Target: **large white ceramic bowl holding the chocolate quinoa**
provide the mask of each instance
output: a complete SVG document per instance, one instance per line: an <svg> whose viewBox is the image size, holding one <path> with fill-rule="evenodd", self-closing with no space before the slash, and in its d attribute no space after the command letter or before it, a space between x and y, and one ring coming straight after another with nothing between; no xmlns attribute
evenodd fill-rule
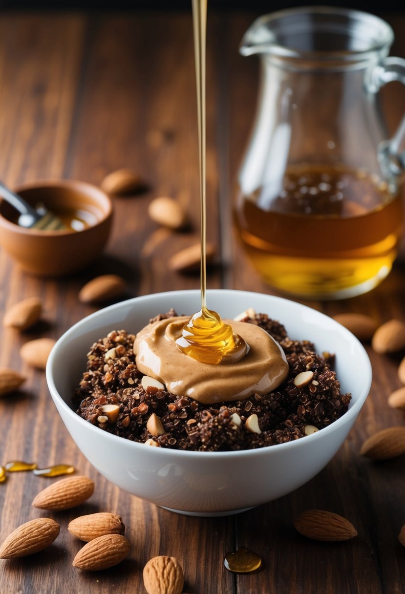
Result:
<svg viewBox="0 0 405 594"><path fill-rule="evenodd" d="M111 330L136 333L154 315L173 307L178 314L200 309L200 292L175 291L129 299L101 309L70 328L50 353L46 377L53 401L78 448L109 481L173 511L216 516L238 513L281 497L305 484L334 456L352 428L371 386L371 364L360 342L324 314L287 299L233 290L210 290L208 307L232 318L248 307L286 326L293 339L309 339L317 352L336 353L349 410L330 426L289 443L230 452L153 448L111 435L71 408L75 386L91 344Z"/></svg>

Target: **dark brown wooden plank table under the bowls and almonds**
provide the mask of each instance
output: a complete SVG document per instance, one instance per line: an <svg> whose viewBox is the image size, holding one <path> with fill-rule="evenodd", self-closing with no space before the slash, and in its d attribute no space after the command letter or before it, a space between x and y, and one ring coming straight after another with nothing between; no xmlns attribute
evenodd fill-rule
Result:
<svg viewBox="0 0 405 594"><path fill-rule="evenodd" d="M219 265L208 286L272 293L245 259L232 235L232 181L254 113L257 62L238 55L252 13L210 14L208 20L208 240ZM384 15L383 15L384 16ZM393 55L405 56L405 18L388 15ZM67 462L96 482L80 513L116 511L132 543L128 560L111 570L82 573L71 562L80 543L67 532L77 510L51 514L61 534L48 551L1 561L5 593L144 592L142 568L158 554L174 555L185 570L185 592L196 594L284 594L405 592L405 549L397 535L405 523L405 456L372 463L359 456L366 437L404 425L404 414L387 406L400 387L400 355L368 352L374 368L370 396L349 438L334 459L307 485L278 501L235 517L198 519L164 511L110 485L79 453L53 406L45 374L18 356L27 340L58 338L94 311L78 302L84 282L118 272L128 296L198 287L198 276L167 270L170 254L198 239L198 162L191 14L3 14L0 19L1 178L13 185L64 177L99 184L110 171L128 166L150 184L134 198L115 199L115 222L96 266L62 280L24 274L0 252L0 312L28 296L40 296L46 312L33 330L2 331L0 365L27 375L21 391L0 400L0 462ZM405 105L399 84L385 89L389 124ZM158 134L156 134L156 131ZM162 140L156 143L160 135ZM158 228L146 215L157 195L181 200L192 218L191 233ZM329 315L358 311L381 322L405 320L403 257L377 289L340 302L311 302ZM286 469L288 472L288 469ZM0 537L43 515L31 500L55 479L14 473L0 485ZM347 517L358 536L322 544L298 535L293 518L306 508ZM258 573L236 576L224 569L225 552L246 546L263 558Z"/></svg>

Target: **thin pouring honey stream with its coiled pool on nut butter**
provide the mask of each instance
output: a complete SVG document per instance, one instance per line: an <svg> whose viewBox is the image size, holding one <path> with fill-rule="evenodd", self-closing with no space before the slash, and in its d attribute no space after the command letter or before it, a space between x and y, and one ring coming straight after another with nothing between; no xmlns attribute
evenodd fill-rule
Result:
<svg viewBox="0 0 405 594"><path fill-rule="evenodd" d="M200 165L201 207L201 310L192 315L176 340L186 355L203 363L235 362L248 351L246 342L234 336L232 327L221 320L219 314L207 308L207 188L205 159L205 48L207 33L207 0L192 0L194 26L195 80L197 87L198 156Z"/></svg>

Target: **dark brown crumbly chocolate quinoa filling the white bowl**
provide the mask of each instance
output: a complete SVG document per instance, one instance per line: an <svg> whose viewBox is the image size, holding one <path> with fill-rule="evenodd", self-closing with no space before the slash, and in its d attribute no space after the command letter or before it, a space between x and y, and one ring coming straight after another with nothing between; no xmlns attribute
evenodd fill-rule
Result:
<svg viewBox="0 0 405 594"><path fill-rule="evenodd" d="M176 315L171 309L150 321ZM132 351L134 334L113 330L94 343L87 355L87 371L74 393L78 415L103 431L140 443L153 438L162 447L226 451L293 441L330 425L346 412L351 396L340 393L336 372L331 369L333 355L318 355L308 340L290 339L284 326L266 314L242 321L264 328L286 353L289 376L276 391L218 405L203 405L154 387L145 391ZM306 386L297 387L294 379L304 371L312 371L314 377ZM102 409L106 404L119 406L115 422L107 421ZM159 437L152 437L146 427L152 413L163 423L165 432ZM239 426L232 421L234 413L241 419ZM245 421L251 415L258 416L260 434L246 429Z"/></svg>

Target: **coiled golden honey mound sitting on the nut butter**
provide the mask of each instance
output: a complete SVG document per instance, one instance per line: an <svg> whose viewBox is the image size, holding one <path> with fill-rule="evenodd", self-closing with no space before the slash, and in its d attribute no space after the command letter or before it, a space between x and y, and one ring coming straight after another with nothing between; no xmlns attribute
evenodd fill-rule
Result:
<svg viewBox="0 0 405 594"><path fill-rule="evenodd" d="M215 311L200 309L185 324L176 345L186 355L202 363L235 363L245 356L248 346Z"/></svg>

